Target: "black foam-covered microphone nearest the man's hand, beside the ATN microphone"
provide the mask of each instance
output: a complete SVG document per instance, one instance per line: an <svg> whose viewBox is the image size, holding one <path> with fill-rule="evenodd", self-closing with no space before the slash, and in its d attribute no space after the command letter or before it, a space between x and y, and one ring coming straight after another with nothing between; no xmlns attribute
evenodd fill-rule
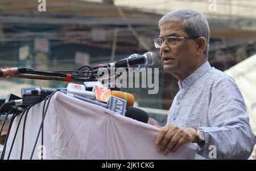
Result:
<svg viewBox="0 0 256 171"><path fill-rule="evenodd" d="M125 116L144 123L148 121L148 114L144 110L131 106L127 107Z"/></svg>

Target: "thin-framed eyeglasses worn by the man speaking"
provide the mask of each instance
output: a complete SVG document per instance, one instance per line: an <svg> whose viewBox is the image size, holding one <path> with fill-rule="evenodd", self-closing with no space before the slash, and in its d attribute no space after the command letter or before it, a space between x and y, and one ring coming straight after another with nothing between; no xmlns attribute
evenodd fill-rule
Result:
<svg viewBox="0 0 256 171"><path fill-rule="evenodd" d="M176 36L170 36L170 37L166 37L164 39L162 38L156 38L154 39L154 43L155 43L155 48L160 48L164 42L164 40L166 40L166 43L168 46L174 46L178 43L179 40L182 39L197 39L198 37L193 37L193 36L187 36L187 37L176 37Z"/></svg>

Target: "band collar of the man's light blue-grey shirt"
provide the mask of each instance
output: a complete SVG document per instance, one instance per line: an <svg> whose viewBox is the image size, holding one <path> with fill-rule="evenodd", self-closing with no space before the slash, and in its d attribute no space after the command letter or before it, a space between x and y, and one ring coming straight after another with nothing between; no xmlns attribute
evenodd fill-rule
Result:
<svg viewBox="0 0 256 171"><path fill-rule="evenodd" d="M197 79L199 79L202 75L204 75L205 72L207 72L210 69L210 63L207 61L203 65L199 67L195 72L193 72L191 75L187 76L182 81L182 84L180 83L180 80L178 82L179 88L186 88L189 87L192 83L194 83Z"/></svg>

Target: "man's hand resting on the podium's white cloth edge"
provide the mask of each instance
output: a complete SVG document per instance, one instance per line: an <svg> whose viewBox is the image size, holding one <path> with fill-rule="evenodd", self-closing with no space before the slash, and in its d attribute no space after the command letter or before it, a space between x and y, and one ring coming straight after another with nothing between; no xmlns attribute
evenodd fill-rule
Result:
<svg viewBox="0 0 256 171"><path fill-rule="evenodd" d="M155 144L158 151L163 151L164 155L167 155L169 151L176 152L186 142L199 142L196 134L196 129L181 128L168 123L160 129Z"/></svg>

